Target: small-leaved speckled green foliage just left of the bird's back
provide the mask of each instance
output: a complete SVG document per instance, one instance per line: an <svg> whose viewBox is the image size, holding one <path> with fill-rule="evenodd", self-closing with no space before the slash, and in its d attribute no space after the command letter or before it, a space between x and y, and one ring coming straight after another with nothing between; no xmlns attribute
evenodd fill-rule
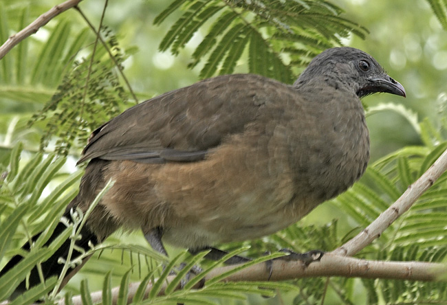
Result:
<svg viewBox="0 0 447 305"><path fill-rule="evenodd" d="M107 29L103 32L109 37L108 45L115 60L106 55L105 48L98 48L96 54L74 61L74 67L65 75L56 94L30 120L30 125L46 122L41 148L54 137L58 137L56 152L63 155L67 155L76 139L80 142L76 148L84 146L89 131L118 115L120 106L127 101L127 93L113 71L122 69L116 63L122 64L124 54L116 37Z"/></svg>

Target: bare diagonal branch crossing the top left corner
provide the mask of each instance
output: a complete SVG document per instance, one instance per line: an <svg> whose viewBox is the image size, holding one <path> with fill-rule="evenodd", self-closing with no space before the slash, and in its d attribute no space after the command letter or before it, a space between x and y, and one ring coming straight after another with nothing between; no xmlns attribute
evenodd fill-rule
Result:
<svg viewBox="0 0 447 305"><path fill-rule="evenodd" d="M64 3L56 5L48 12L41 14L41 16L39 16L36 20L30 23L30 25L25 27L19 33L10 36L10 38L8 38L8 40L0 47L0 59L8 54L8 52L10 52L10 49L23 41L23 39L31 36L32 34L35 34L39 30L39 28L47 24L48 21L52 20L58 14L65 12L69 8L73 8L74 6L78 5L80 1L82 0L68 0Z"/></svg>

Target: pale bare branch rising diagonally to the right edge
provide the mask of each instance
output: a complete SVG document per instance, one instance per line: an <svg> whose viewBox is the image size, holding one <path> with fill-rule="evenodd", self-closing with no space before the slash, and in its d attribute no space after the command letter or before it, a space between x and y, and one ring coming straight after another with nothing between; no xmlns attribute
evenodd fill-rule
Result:
<svg viewBox="0 0 447 305"><path fill-rule="evenodd" d="M352 238L345 245L332 251L334 254L353 256L360 250L371 244L375 238L385 231L399 216L408 211L408 209L430 188L435 181L447 170L447 150L439 157L435 163L424 174L422 174L415 183L408 186L404 194L400 196L386 211L382 212L367 228L361 231L356 237Z"/></svg>

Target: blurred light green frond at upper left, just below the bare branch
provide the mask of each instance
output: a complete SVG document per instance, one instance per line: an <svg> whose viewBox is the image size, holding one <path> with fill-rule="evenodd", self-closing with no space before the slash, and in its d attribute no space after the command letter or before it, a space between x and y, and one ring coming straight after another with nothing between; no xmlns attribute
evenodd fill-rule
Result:
<svg viewBox="0 0 447 305"><path fill-rule="evenodd" d="M12 29L8 24L7 11L0 5L0 41L6 41ZM30 23L29 8L18 12L19 28ZM52 30L45 43L25 40L17 49L12 49L0 61L1 99L11 98L26 103L45 102L61 82L64 71L72 66L80 48L85 47L88 32L82 30L73 34L73 25L61 20ZM69 37L75 36L74 39ZM39 54L28 54L30 47ZM35 56L35 57L34 57Z"/></svg>

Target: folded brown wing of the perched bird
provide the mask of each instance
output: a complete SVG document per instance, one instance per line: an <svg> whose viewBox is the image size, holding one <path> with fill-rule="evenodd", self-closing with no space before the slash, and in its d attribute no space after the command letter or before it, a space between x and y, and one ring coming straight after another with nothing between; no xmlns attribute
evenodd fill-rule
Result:
<svg viewBox="0 0 447 305"><path fill-rule="evenodd" d="M96 129L78 163L199 161L225 137L243 132L265 100L272 100L270 87L278 86L287 87L263 76L234 74L164 93Z"/></svg>

